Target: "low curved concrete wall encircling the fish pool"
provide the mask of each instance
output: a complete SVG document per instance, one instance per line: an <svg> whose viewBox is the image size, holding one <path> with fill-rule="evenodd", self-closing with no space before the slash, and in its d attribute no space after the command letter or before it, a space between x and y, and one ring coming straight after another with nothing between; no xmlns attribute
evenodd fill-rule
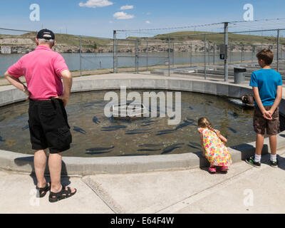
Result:
<svg viewBox="0 0 285 228"><path fill-rule="evenodd" d="M173 78L164 76L141 76L134 74L106 75L100 78L92 76L76 78L72 92L87 90L148 88L165 90L183 90L190 92L225 95L240 98L245 93L252 93L246 86L232 85L217 81L202 81L190 78ZM0 90L0 106L25 100L21 91L11 86L3 86ZM280 107L280 105L284 105ZM285 110L284 99L279 105ZM233 162L244 160L254 154L255 142L230 147ZM285 131L277 135L277 150L285 147ZM262 154L269 152L269 139L264 139ZM174 155L149 155L133 157L63 157L63 175L94 175L102 173L150 172L158 170L181 170L207 165L207 160L200 153L184 153ZM32 173L33 156L0 150L0 168L15 172ZM46 168L48 173L48 167Z"/></svg>

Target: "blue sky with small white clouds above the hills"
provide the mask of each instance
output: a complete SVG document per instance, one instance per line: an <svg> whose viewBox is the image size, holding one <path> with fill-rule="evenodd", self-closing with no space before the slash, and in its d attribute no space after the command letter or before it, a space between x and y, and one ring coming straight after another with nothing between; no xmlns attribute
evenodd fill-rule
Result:
<svg viewBox="0 0 285 228"><path fill-rule="evenodd" d="M30 9L32 4L39 6L39 21L30 19L34 12L34 8ZM55 33L67 31L76 35L110 38L113 37L113 30L118 29L172 28L243 21L244 4L252 4L254 20L285 18L284 0L1 0L0 28L28 31L48 28ZM285 28L285 24L280 26ZM195 29L211 31L213 28ZM167 32L171 30L145 31L145 36ZM138 34L128 31L119 35Z"/></svg>

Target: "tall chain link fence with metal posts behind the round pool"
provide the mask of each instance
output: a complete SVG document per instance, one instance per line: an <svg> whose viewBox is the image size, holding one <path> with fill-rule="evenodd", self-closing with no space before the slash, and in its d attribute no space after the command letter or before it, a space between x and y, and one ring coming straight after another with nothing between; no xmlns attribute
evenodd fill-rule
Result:
<svg viewBox="0 0 285 228"><path fill-rule="evenodd" d="M170 34L171 35L171 34ZM171 36L100 38L56 33L53 50L61 53L73 76L98 73L144 73L173 76L190 74L207 78L229 77L234 66L248 72L259 68L256 54L262 48L274 51L272 68L285 71L285 29L225 32L182 32ZM0 28L0 76L13 63L36 48L36 31Z"/></svg>

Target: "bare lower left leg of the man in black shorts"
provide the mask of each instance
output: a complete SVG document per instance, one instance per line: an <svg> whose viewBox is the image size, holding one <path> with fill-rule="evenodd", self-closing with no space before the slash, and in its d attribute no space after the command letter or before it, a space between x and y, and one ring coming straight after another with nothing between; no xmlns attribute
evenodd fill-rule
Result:
<svg viewBox="0 0 285 228"><path fill-rule="evenodd" d="M46 178L44 172L46 170L46 150L37 150L33 157L33 164L38 180L38 187L46 187Z"/></svg>

